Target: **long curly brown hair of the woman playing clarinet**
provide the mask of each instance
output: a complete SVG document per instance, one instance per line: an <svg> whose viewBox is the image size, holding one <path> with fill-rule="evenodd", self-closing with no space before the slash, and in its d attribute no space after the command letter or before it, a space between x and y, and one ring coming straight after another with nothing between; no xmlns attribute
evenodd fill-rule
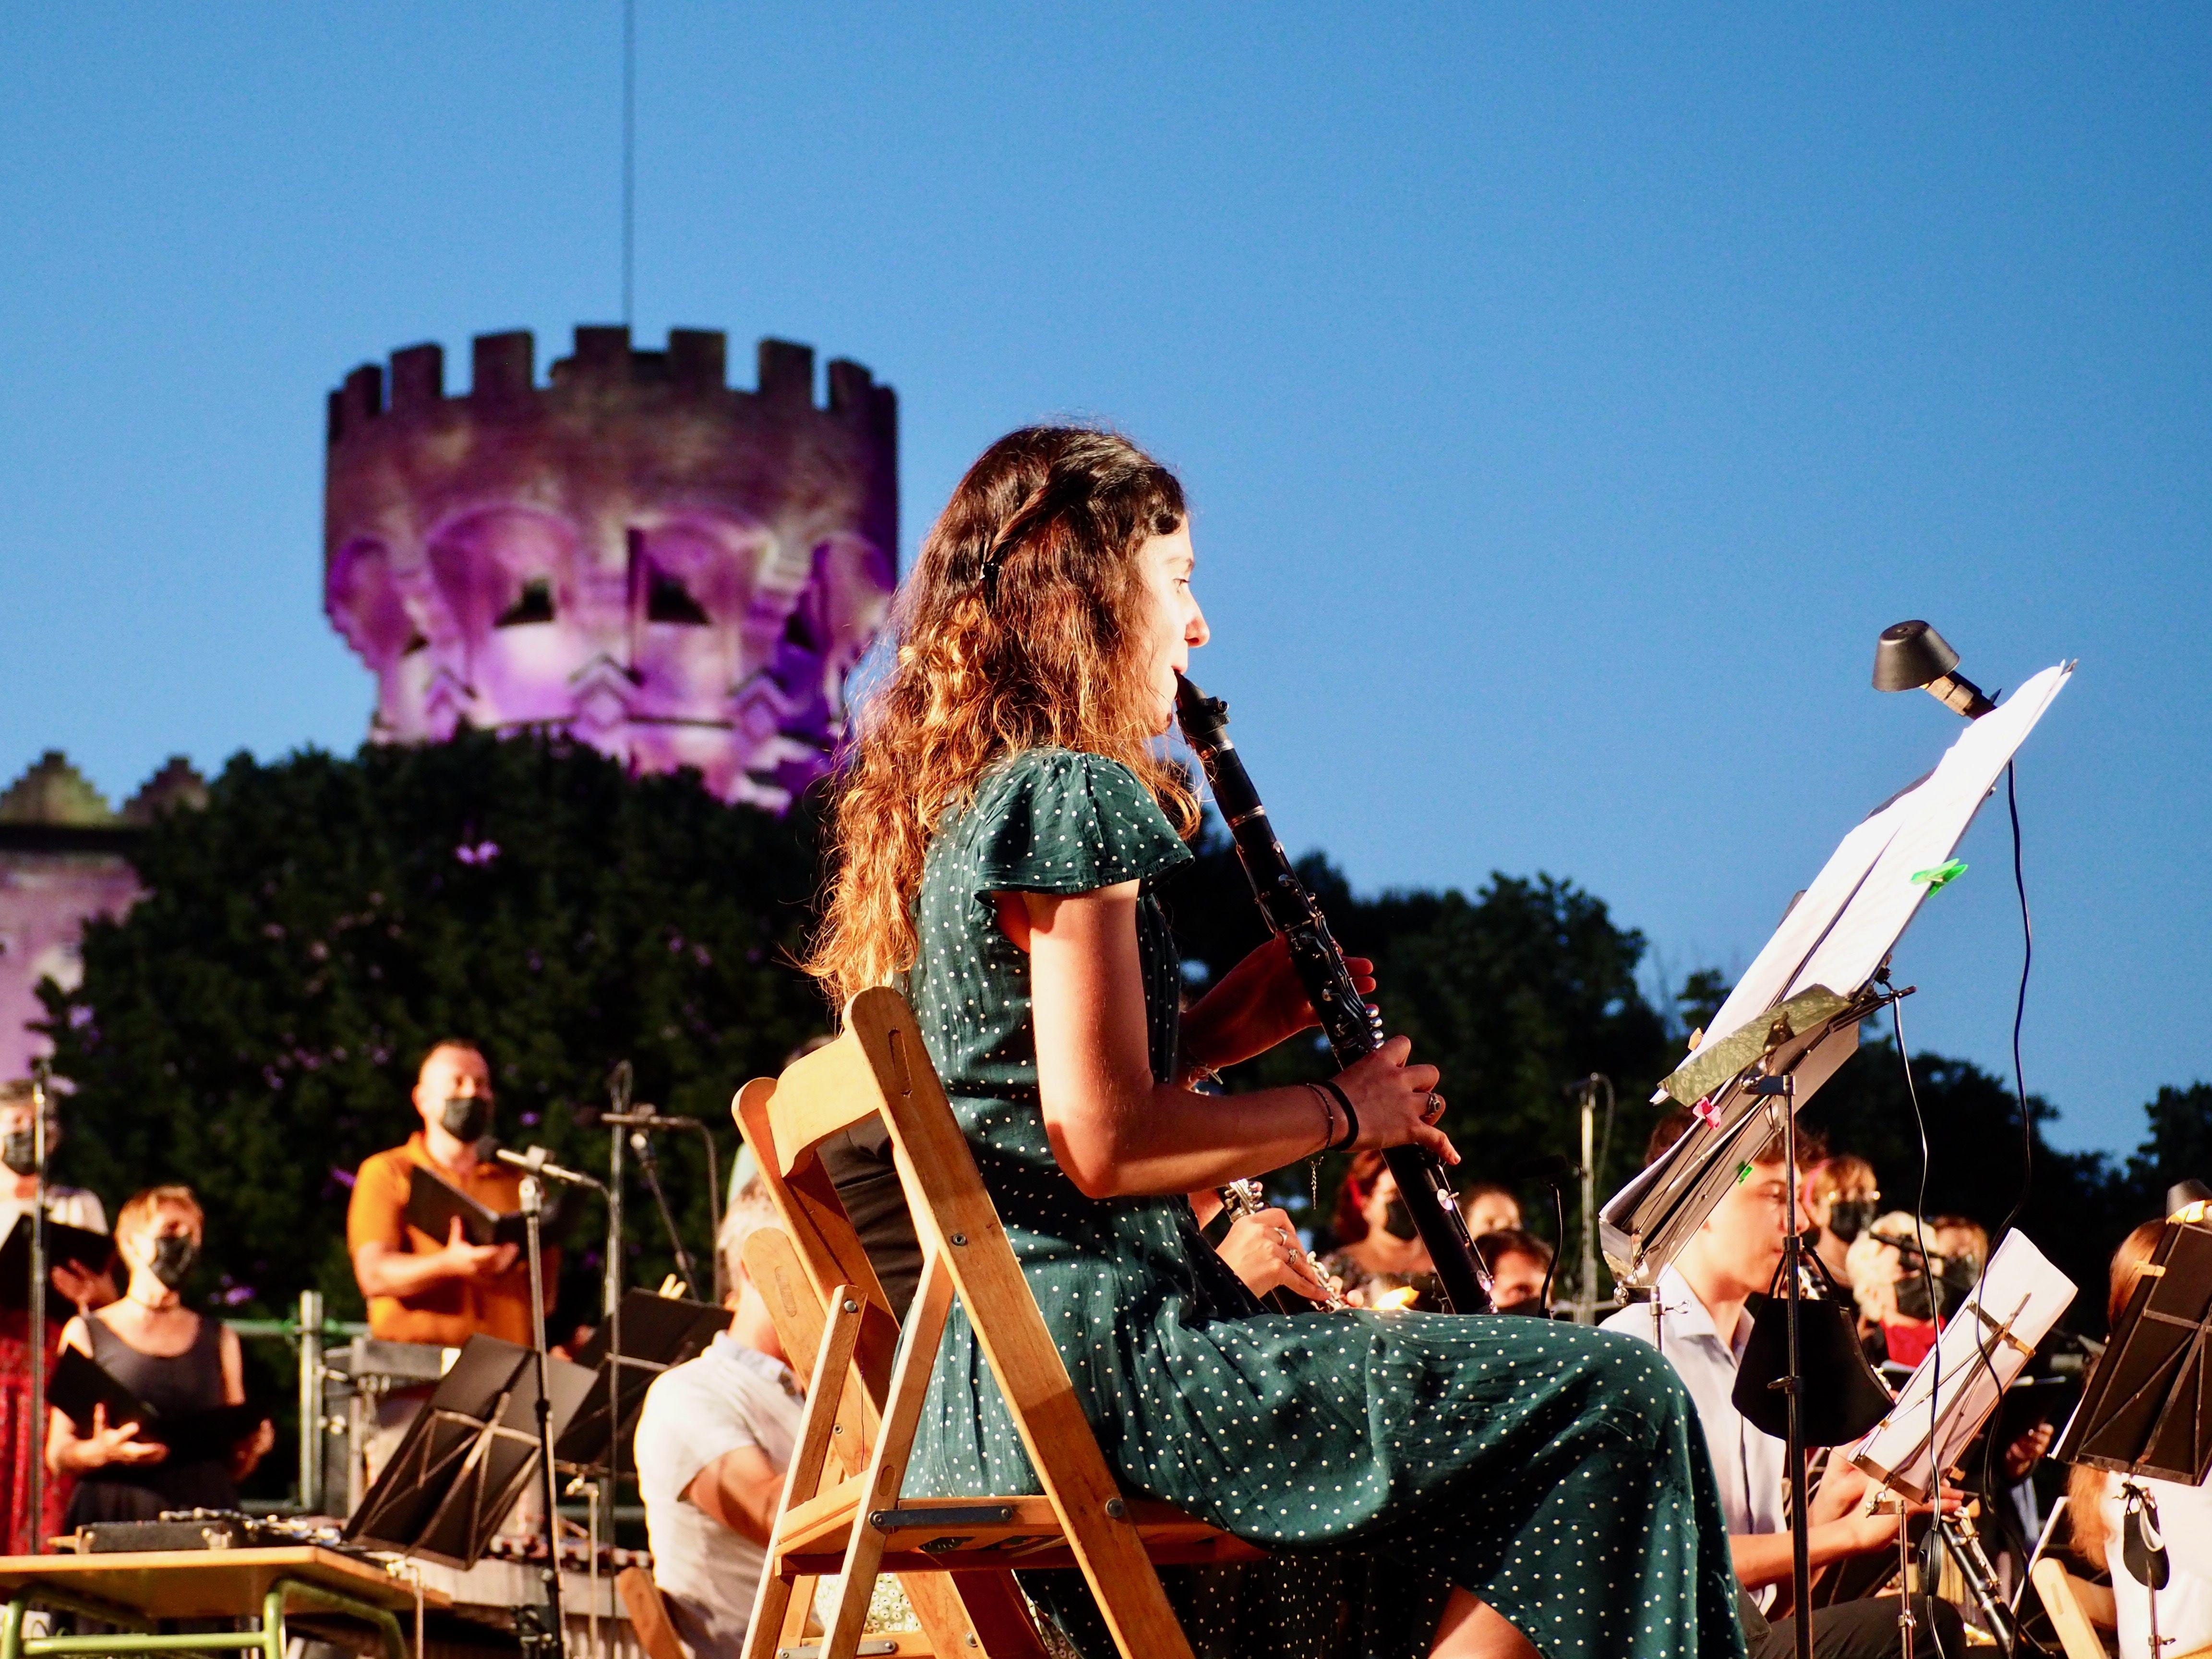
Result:
<svg viewBox="0 0 2212 1659"><path fill-rule="evenodd" d="M914 967L914 898L945 816L1033 748L1126 763L1190 836L1199 803L1155 752L1137 549L1183 487L1128 438L1024 427L953 489L891 611L896 661L854 714L830 796L832 878L807 971L843 1006Z"/></svg>

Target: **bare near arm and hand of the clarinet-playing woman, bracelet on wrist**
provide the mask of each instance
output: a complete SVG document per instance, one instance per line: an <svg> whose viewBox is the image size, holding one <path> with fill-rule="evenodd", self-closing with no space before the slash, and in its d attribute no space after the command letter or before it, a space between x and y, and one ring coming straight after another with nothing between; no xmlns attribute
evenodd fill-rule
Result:
<svg viewBox="0 0 2212 1659"><path fill-rule="evenodd" d="M1194 1095L1152 1077L1146 1053L1144 971L1137 958L1137 883L1093 894L1022 894L1037 1095L1053 1157L1091 1199L1190 1192L1283 1168L1343 1135L1312 1088ZM1013 931L1013 929L1009 929ZM1420 1119L1433 1066L1407 1066L1391 1037L1340 1084L1360 1117L1358 1146L1422 1141L1455 1159Z"/></svg>

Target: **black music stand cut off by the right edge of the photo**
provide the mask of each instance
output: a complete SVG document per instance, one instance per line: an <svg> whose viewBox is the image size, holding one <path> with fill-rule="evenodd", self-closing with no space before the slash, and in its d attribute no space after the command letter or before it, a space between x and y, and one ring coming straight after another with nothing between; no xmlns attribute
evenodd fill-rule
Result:
<svg viewBox="0 0 2212 1659"><path fill-rule="evenodd" d="M2062 1462L2119 1475L2126 1520L2121 1559L2150 1590L2150 1652L2157 1659L2159 1590L2168 1562L2159 1504L2146 1480L2201 1486L2212 1473L2212 1225L2168 1221L2112 1323L2081 1407L2059 1440Z"/></svg>

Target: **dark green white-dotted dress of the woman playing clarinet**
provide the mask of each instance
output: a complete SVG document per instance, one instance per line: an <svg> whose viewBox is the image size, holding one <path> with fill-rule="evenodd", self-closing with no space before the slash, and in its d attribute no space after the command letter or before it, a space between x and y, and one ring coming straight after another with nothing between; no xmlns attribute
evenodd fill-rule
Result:
<svg viewBox="0 0 2212 1659"><path fill-rule="evenodd" d="M1168 1571L1199 1655L1422 1655L1451 1586L1553 1659L1734 1657L1712 1464L1646 1343L1533 1318L1270 1314L1181 1197L1086 1199L1037 1108L1029 958L993 891L1146 883L1152 1073L1179 967L1150 883L1190 858L1137 776L1095 754L1000 763L931 843L909 998L1106 1462L1133 1493L1270 1546ZM1035 1473L956 1307L911 1491L1031 1493ZM1073 1573L1024 1575L1086 1655L1113 1644Z"/></svg>

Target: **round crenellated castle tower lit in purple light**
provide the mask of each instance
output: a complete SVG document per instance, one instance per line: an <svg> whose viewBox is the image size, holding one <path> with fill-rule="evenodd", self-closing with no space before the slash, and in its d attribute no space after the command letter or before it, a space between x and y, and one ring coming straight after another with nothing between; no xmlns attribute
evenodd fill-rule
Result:
<svg viewBox="0 0 2212 1659"><path fill-rule="evenodd" d="M783 810L827 768L845 675L898 580L898 400L858 363L580 327L392 354L330 394L323 608L376 675L376 741L562 730L635 772L697 768Z"/></svg>

